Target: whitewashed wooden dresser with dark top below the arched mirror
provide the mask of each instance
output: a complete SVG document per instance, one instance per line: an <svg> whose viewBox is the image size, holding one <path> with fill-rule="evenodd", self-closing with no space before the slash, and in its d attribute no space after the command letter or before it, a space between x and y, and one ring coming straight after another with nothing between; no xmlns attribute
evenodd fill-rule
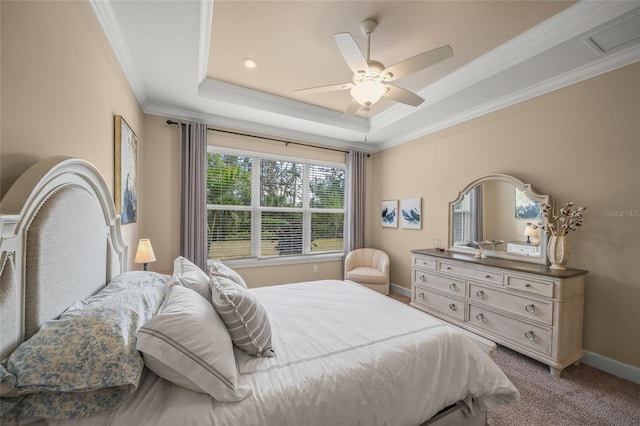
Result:
<svg viewBox="0 0 640 426"><path fill-rule="evenodd" d="M587 271L412 250L411 306L560 372L582 358Z"/></svg>

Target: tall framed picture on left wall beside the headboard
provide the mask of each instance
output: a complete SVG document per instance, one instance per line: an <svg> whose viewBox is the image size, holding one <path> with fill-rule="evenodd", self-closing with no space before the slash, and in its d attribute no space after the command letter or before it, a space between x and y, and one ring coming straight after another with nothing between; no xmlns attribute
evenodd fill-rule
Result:
<svg viewBox="0 0 640 426"><path fill-rule="evenodd" d="M121 115L115 124L114 201L121 223L135 223L138 216L138 138Z"/></svg>

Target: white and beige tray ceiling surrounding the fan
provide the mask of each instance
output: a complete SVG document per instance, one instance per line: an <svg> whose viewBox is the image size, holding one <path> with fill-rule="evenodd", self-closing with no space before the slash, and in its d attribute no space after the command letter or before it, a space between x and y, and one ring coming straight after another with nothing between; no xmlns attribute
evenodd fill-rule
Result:
<svg viewBox="0 0 640 426"><path fill-rule="evenodd" d="M92 1L145 113L376 151L640 59L640 2ZM389 66L445 44L454 56L400 79L419 107L382 99L344 116L351 81L333 34ZM599 49L598 43L606 44ZM595 46L595 47L594 47ZM258 66L248 69L242 59Z"/></svg>

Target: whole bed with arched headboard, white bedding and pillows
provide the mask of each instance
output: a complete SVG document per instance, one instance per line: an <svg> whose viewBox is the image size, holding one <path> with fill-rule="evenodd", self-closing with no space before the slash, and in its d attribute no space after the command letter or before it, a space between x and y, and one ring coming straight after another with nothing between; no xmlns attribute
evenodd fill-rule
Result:
<svg viewBox="0 0 640 426"><path fill-rule="evenodd" d="M481 425L487 410L519 398L500 368L465 333L352 282L248 290L228 284L234 277L224 273L200 271L208 284L198 287L181 281L177 267L173 276L127 272L127 247L111 195L86 161L52 157L36 163L0 206L3 424ZM220 306L230 303L229 294L260 309L268 327L260 323L260 332L249 336L256 345L258 334L267 329L268 345L257 345L252 353L236 341ZM45 355L35 357L33 348L24 349L58 326L68 331L78 318L93 327L95 317L87 319L85 312L105 317L113 305L134 312L124 321L129 333L124 352L138 358L111 365L100 359L110 348L101 348L86 361L75 359L76 346L95 349L86 343L96 337L93 328L80 339L80 328L77 333L71 328L65 344L49 348L62 351L65 362L88 369L83 373L88 376L108 366L104 387L92 382L70 388L58 377L66 370L37 363ZM233 306L237 311L240 304ZM115 324L111 328L122 328L122 321L106 320ZM167 339L172 332L177 333L173 340ZM169 341L173 346L160 352L162 346L153 346ZM197 348L183 350L191 344ZM203 364L211 351L218 358ZM47 380L51 371L60 373L58 387L20 387L24 383L14 371L16 360L42 369ZM208 370L181 370L194 360L197 368ZM214 362L221 364L213 368ZM94 405L83 399L89 394ZM25 402L43 395L46 404Z"/></svg>

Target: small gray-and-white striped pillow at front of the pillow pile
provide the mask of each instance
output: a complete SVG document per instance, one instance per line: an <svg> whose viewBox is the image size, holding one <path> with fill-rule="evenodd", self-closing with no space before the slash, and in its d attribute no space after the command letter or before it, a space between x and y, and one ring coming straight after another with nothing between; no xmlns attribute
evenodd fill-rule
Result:
<svg viewBox="0 0 640 426"><path fill-rule="evenodd" d="M211 277L211 302L227 326L233 343L257 357L273 356L271 324L251 292L225 277Z"/></svg>

